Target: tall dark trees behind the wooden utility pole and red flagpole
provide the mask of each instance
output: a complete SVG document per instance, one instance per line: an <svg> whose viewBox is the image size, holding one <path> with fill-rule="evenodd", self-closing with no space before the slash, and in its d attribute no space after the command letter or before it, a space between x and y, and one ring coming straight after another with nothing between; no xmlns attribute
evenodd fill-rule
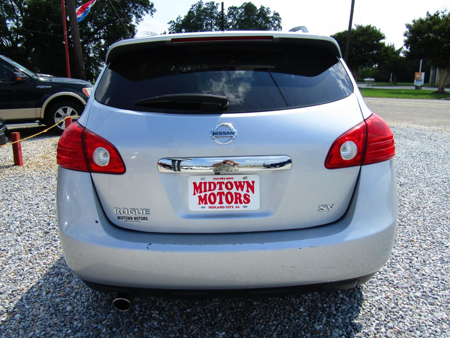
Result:
<svg viewBox="0 0 450 338"><path fill-rule="evenodd" d="M76 6L86 1L78 0ZM133 37L135 24L145 14L155 12L149 0L116 0L112 4L114 7L109 1L95 2L88 16L78 23L86 77L90 79L103 66L108 47ZM67 33L70 38L70 30ZM65 76L61 1L1 1L0 54L39 73ZM70 40L69 56L74 69Z"/></svg>

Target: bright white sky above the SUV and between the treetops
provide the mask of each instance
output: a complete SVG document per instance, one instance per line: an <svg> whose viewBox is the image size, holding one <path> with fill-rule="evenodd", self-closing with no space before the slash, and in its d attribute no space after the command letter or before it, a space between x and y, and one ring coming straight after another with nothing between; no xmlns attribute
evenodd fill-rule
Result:
<svg viewBox="0 0 450 338"><path fill-rule="evenodd" d="M168 31L170 20L178 15L183 17L197 0L151 0L156 13L153 18L147 15L138 29L161 34ZM204 3L207 1L203 1ZM220 1L216 1L219 2ZM225 12L229 6L240 6L245 0L225 0ZM247 0L247 2L250 2ZM306 26L316 35L331 35L347 30L350 18L351 0L255 0L257 7L263 5L280 14L283 31L296 26ZM220 8L220 5L219 5ZM355 0L353 27L355 24L376 26L386 36L386 43L394 43L396 48L403 46L405 23L414 18L425 17L430 13L448 8L445 0Z"/></svg>

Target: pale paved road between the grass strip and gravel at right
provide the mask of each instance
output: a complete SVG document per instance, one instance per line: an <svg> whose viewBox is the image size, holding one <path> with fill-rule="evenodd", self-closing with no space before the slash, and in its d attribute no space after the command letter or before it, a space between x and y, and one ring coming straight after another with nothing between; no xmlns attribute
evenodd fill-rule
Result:
<svg viewBox="0 0 450 338"><path fill-rule="evenodd" d="M450 132L450 101L367 97L365 102L391 126Z"/></svg>

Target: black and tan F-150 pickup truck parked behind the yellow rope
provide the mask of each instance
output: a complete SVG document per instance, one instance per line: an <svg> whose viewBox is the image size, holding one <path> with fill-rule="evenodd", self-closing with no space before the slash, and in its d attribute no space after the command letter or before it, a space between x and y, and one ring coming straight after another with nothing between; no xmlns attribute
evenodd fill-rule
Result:
<svg viewBox="0 0 450 338"><path fill-rule="evenodd" d="M90 82L34 73L0 55L0 116L6 123L52 126L66 116L79 116L91 91ZM56 130L62 132L64 123Z"/></svg>

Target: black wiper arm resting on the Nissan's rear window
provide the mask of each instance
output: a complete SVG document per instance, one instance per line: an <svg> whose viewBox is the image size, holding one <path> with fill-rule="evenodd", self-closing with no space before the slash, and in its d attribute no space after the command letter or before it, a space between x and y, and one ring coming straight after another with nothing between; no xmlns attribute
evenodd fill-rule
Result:
<svg viewBox="0 0 450 338"><path fill-rule="evenodd" d="M148 97L135 101L135 105L161 105L161 104L214 104L218 109L228 107L226 96L211 94L167 94Z"/></svg>

